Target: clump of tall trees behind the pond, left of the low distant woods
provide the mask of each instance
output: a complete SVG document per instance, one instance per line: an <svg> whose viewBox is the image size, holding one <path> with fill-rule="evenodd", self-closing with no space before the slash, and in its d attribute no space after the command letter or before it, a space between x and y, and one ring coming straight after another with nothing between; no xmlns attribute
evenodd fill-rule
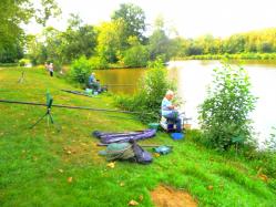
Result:
<svg viewBox="0 0 276 207"><path fill-rule="evenodd" d="M144 11L132 3L121 4L110 21L99 25L84 24L71 14L65 31L49 27L40 35L28 35L27 56L34 64L51 60L55 65L84 56L94 69L145 66L157 56L170 60L175 50L163 19L156 21L150 37L145 35L146 27Z"/></svg>

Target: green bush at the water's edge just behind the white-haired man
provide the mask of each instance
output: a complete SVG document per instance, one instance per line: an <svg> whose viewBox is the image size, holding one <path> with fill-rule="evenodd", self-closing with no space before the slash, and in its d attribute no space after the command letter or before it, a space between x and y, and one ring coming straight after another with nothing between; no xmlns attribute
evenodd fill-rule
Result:
<svg viewBox="0 0 276 207"><path fill-rule="evenodd" d="M139 117L144 123L156 121L160 116L161 102L168 89L175 89L167 79L167 71L160 59L149 64L149 70L140 80L140 90L133 96L119 96L117 105L127 111L141 112ZM150 114L147 114L150 113Z"/></svg>

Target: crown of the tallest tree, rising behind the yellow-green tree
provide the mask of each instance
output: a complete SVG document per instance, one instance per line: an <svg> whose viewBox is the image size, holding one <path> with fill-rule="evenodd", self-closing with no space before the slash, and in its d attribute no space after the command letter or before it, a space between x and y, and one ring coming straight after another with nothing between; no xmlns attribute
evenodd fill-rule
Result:
<svg viewBox="0 0 276 207"><path fill-rule="evenodd" d="M113 13L112 20L123 21L123 46L129 45L129 37L137 37L141 42L144 40L145 13L140 7L133 3L122 3L120 9Z"/></svg>

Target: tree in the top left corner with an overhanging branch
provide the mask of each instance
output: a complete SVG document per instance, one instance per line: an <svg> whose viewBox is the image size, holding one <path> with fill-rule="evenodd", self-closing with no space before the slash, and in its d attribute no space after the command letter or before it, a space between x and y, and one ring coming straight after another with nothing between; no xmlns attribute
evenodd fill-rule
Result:
<svg viewBox="0 0 276 207"><path fill-rule="evenodd" d="M23 23L34 18L45 24L51 15L60 13L55 0L41 0L40 3L33 3L33 0L1 0L0 10L0 58L12 54L9 61L14 61L22 53L19 51L22 51Z"/></svg>

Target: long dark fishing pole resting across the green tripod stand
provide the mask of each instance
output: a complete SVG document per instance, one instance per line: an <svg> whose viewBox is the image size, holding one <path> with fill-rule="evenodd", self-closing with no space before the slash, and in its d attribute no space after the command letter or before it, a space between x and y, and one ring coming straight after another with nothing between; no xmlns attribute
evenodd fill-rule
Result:
<svg viewBox="0 0 276 207"><path fill-rule="evenodd" d="M38 106L48 106L48 104L35 103L35 102L22 102L22 101L11 101L11 100L0 100L1 103L11 103L11 104L25 104L25 105L38 105ZM116 112L116 113L125 113L125 114L151 114L152 113L141 113L141 112L130 112L130 111L120 111L120 110L106 110L106 108L94 108L88 106L72 106L72 105L61 105L61 104L52 104L54 107L64 107L70 110L90 110L98 112Z"/></svg>

